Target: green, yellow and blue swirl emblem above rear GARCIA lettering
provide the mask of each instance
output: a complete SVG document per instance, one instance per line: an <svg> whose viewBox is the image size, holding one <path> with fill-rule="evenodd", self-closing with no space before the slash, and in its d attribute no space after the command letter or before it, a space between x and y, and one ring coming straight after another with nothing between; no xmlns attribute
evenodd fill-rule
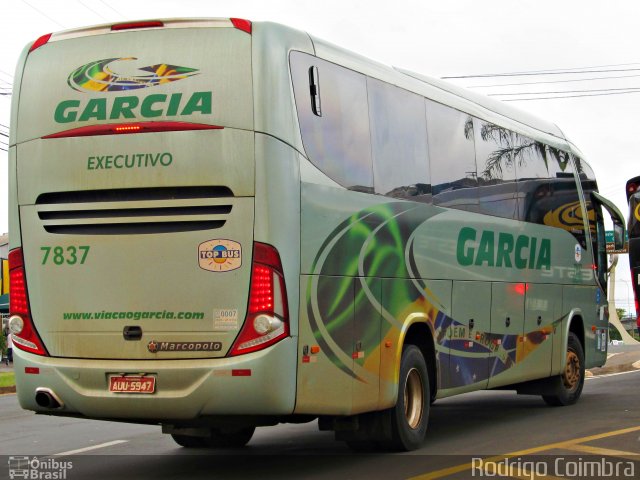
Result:
<svg viewBox="0 0 640 480"><path fill-rule="evenodd" d="M161 63L138 68L138 75L124 75L112 70L114 62L137 60L135 57L105 58L76 68L67 80L71 88L79 92L122 92L139 88L155 87L163 83L183 80L197 75L195 68Z"/></svg>

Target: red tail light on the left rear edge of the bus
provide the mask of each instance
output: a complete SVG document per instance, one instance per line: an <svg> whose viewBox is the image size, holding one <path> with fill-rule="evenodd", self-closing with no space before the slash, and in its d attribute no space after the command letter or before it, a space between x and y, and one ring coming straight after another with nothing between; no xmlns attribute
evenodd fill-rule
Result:
<svg viewBox="0 0 640 480"><path fill-rule="evenodd" d="M47 355L29 309L29 295L22 248L9 252L9 330L15 346L36 355Z"/></svg>

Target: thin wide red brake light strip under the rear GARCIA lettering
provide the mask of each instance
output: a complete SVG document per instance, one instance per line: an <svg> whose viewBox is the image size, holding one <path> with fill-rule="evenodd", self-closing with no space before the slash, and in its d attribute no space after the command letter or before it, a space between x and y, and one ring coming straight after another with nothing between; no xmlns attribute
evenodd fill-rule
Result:
<svg viewBox="0 0 640 480"><path fill-rule="evenodd" d="M52 133L42 138L93 137L97 135L118 135L123 133L182 132L185 130L222 130L218 125L189 122L138 122L108 123L106 125L89 125L72 128L63 132Z"/></svg>

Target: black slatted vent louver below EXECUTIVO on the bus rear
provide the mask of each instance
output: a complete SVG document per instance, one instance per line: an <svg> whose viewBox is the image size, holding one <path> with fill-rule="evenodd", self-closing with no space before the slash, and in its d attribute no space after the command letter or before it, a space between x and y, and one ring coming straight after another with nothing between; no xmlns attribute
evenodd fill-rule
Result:
<svg viewBox="0 0 640 480"><path fill-rule="evenodd" d="M49 233L132 235L222 227L231 212L227 187L161 187L52 192L36 200Z"/></svg>

